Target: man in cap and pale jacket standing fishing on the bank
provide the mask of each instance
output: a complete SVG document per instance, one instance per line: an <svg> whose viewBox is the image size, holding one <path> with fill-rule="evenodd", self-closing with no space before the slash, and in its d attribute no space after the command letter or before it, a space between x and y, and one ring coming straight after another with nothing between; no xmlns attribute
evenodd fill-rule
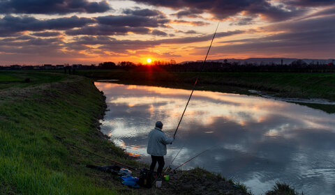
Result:
<svg viewBox="0 0 335 195"><path fill-rule="evenodd" d="M149 141L147 153L151 155L150 171L154 172L156 163L158 162L157 178L161 178L161 173L164 167L164 155L166 155L166 145L171 144L174 141L175 135L172 137L166 137L162 131L163 123L157 121L154 130L149 132Z"/></svg>

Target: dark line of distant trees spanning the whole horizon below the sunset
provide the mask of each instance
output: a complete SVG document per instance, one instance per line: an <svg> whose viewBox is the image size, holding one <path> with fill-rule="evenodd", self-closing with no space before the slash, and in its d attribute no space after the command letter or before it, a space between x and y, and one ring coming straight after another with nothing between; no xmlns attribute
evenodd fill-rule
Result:
<svg viewBox="0 0 335 195"><path fill-rule="evenodd" d="M121 61L117 64L114 62L103 62L98 65L50 65L45 64L42 66L21 66L10 65L7 67L0 66L1 69L6 70L29 70L29 69L119 69L127 71L167 71L167 72L199 72L202 69L202 62L188 62L176 63L176 61L154 61L150 64L133 63L131 61ZM334 61L332 63L306 63L303 60L292 61L290 64L276 63L239 63L229 62L206 62L202 71L204 72L333 72Z"/></svg>

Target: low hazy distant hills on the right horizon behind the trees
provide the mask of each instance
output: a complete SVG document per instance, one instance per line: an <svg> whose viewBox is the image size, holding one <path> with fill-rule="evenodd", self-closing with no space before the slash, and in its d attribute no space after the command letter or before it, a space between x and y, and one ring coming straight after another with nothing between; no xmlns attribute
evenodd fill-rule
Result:
<svg viewBox="0 0 335 195"><path fill-rule="evenodd" d="M256 63L256 64L281 64L281 59L283 59L283 64L290 64L292 61L297 61L298 59L285 59L285 58L250 58L250 59L227 59L228 63ZM217 59L217 60L207 60L207 61L214 61L214 62L224 62L225 59ZM334 59L301 59L306 63L320 63L325 64L334 61ZM182 63L189 63L192 61L184 61ZM202 62L202 61L196 61L196 62Z"/></svg>

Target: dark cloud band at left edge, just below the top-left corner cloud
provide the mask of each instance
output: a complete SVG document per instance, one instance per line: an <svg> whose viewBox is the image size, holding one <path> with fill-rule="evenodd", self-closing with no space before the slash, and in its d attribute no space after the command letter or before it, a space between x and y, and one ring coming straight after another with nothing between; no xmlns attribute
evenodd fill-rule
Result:
<svg viewBox="0 0 335 195"><path fill-rule="evenodd" d="M22 31L66 30L85 26L94 20L86 17L60 17L50 20L37 20L35 17L14 17L6 15L0 19L0 36L13 36Z"/></svg>

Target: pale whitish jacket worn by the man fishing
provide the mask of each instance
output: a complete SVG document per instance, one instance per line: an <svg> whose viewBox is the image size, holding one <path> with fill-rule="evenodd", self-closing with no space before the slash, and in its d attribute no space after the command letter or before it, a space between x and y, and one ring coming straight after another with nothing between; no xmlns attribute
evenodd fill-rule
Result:
<svg viewBox="0 0 335 195"><path fill-rule="evenodd" d="M165 133L158 127L149 132L147 153L154 156L166 155L166 145L172 143L172 137L166 137Z"/></svg>

